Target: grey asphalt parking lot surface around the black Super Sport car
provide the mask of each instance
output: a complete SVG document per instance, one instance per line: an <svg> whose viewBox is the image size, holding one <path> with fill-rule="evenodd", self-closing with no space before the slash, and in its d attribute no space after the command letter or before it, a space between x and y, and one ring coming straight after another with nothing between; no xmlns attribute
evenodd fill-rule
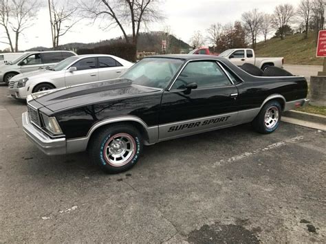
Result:
<svg viewBox="0 0 326 244"><path fill-rule="evenodd" d="M0 242L326 242L326 134L245 124L146 147L105 175L86 153L47 157L0 85Z"/></svg>

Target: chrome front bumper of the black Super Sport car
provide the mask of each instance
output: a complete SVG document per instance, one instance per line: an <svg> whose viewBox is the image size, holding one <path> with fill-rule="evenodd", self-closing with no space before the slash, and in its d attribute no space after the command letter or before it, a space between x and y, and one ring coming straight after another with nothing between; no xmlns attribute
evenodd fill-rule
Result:
<svg viewBox="0 0 326 244"><path fill-rule="evenodd" d="M65 138L52 139L30 123L28 112L23 113L23 130L28 139L46 155L62 155L67 153Z"/></svg>

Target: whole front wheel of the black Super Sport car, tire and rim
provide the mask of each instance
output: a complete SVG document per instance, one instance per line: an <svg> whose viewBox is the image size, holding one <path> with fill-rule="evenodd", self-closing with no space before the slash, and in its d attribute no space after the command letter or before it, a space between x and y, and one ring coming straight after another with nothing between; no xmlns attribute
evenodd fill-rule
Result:
<svg viewBox="0 0 326 244"><path fill-rule="evenodd" d="M142 147L142 136L137 129L128 124L116 124L92 136L89 155L102 170L116 174L135 166Z"/></svg>

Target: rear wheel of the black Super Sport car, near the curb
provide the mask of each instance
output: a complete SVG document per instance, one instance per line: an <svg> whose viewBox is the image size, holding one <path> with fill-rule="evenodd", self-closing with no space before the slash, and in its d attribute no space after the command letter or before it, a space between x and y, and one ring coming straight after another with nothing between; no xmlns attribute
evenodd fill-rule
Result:
<svg viewBox="0 0 326 244"><path fill-rule="evenodd" d="M259 133L272 133L279 127L281 111L281 104L276 100L267 102L252 121L252 126Z"/></svg>

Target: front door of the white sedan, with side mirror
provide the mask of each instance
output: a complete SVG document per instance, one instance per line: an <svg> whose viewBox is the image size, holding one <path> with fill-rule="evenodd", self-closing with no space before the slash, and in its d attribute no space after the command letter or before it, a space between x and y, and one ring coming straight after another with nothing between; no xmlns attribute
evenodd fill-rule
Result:
<svg viewBox="0 0 326 244"><path fill-rule="evenodd" d="M76 67L77 70L69 71L67 69L65 71L66 87L98 81L98 68L95 57L78 60L72 67Z"/></svg>

